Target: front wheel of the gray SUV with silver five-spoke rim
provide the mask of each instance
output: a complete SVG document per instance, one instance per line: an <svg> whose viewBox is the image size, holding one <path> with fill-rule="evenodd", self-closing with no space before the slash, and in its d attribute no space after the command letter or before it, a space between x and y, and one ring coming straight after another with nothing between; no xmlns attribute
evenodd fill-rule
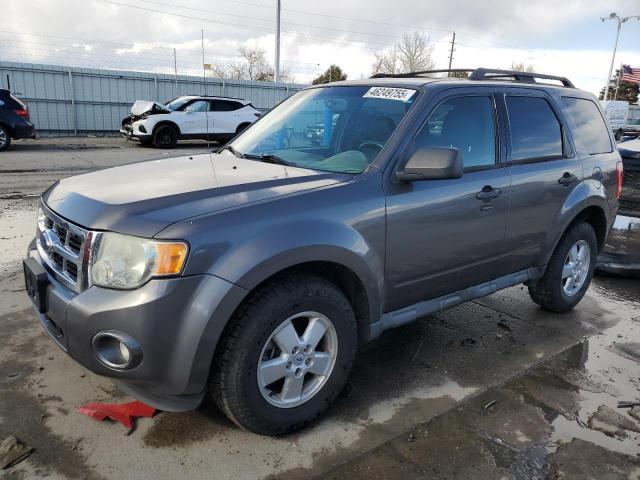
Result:
<svg viewBox="0 0 640 480"><path fill-rule="evenodd" d="M307 324L305 315L309 313L313 313L312 317L319 314L324 318L314 318ZM330 326L317 350L309 354L313 357L310 367L303 367L309 356L303 360L298 358L307 355L306 350L295 356L294 352L287 355L277 346L286 342L270 341L274 335L280 337L277 332L287 337L284 334L290 332L291 325L298 336L287 339L304 342L303 332L309 331L311 322L322 326L325 320ZM355 315L338 287L302 273L277 277L259 287L232 317L213 362L209 394L220 410L245 430L262 435L292 432L314 420L340 393L351 371L357 344ZM331 360L327 359L332 356L331 352L334 363L329 368ZM322 362L318 355L323 356ZM269 387L265 386L268 380L259 385L263 377L258 368L259 362L263 364L268 359L279 362L285 369L279 370L281 378ZM285 361L288 363L282 363ZM326 374L315 375L314 369L322 369ZM284 387L289 380L291 385L305 382L299 397L287 399ZM305 395L308 395L306 399Z"/></svg>

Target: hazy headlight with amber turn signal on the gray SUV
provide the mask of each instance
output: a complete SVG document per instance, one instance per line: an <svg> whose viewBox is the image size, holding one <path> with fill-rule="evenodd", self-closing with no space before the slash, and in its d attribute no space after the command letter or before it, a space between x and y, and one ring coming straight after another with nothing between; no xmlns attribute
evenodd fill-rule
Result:
<svg viewBox="0 0 640 480"><path fill-rule="evenodd" d="M103 233L91 263L94 285L136 288L152 277L178 275L187 258L184 242Z"/></svg>

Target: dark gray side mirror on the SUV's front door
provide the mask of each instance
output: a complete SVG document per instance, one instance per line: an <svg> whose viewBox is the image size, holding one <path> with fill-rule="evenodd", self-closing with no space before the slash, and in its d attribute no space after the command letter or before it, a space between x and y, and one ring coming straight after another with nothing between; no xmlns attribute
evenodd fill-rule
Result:
<svg viewBox="0 0 640 480"><path fill-rule="evenodd" d="M462 154L457 148L418 148L396 171L402 182L447 180L462 177Z"/></svg>

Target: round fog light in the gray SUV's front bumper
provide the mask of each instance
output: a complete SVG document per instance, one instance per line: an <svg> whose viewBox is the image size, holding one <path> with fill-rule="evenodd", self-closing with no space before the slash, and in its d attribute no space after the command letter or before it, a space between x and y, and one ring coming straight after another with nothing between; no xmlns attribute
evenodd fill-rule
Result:
<svg viewBox="0 0 640 480"><path fill-rule="evenodd" d="M115 370L130 370L142 361L140 344L131 335L117 330L97 333L91 346L100 363Z"/></svg>

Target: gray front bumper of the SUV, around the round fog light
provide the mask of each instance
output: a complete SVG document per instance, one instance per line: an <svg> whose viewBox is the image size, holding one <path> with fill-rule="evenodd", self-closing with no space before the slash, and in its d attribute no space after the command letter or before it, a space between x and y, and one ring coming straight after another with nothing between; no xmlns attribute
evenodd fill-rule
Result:
<svg viewBox="0 0 640 480"><path fill-rule="evenodd" d="M39 263L38 252L29 256ZM158 409L184 411L202 400L216 344L246 291L212 275L151 280L135 290L89 287L75 293L48 275L45 331L92 372ZM124 332L142 347L130 370L102 364L92 347L104 330Z"/></svg>

